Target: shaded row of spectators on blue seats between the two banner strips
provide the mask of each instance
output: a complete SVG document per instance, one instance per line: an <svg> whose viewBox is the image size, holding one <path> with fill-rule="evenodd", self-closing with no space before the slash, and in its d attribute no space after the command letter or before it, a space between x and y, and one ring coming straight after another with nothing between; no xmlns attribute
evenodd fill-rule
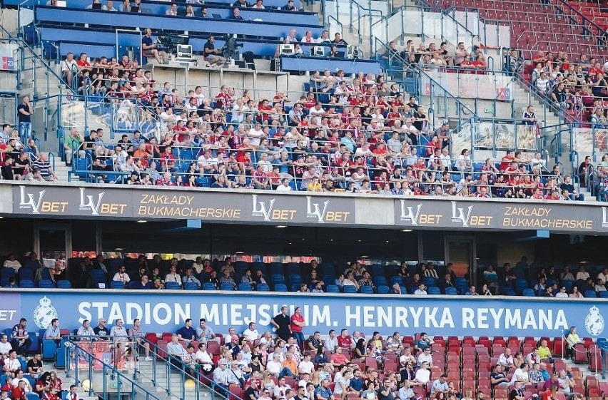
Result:
<svg viewBox="0 0 608 400"><path fill-rule="evenodd" d="M21 264L23 262L23 264ZM71 287L111 287L113 289L223 289L292 291L305 293L346 292L380 294L462 294L492 296L526 295L556 298L606 297L608 268L577 268L564 265L559 268L530 266L522 257L515 267L505 263L480 267L476 272L477 287L469 277L458 276L452 264L423 262L400 265L366 265L351 262L349 265L310 264L288 265L263 263L248 265L234 262L231 257L213 261L196 257L196 260L162 260L154 255L137 259L94 259L83 257L69 260L71 272L64 262L39 260L31 253L24 260L9 255L0 268L3 287L19 287L21 280L71 281Z"/></svg>

